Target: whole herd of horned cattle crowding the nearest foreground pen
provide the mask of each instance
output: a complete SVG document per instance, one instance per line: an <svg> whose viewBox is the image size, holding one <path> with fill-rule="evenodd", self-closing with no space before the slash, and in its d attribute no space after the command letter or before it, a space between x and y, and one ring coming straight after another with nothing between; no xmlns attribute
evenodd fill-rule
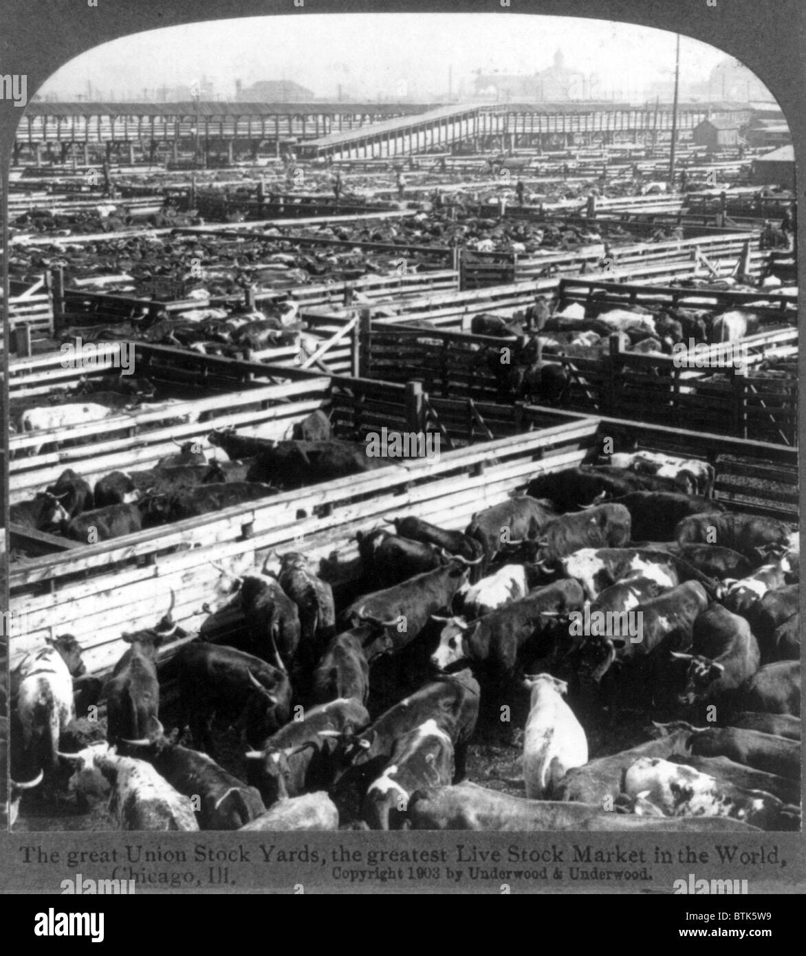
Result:
<svg viewBox="0 0 806 956"><path fill-rule="evenodd" d="M231 645L158 660L182 634L172 602L104 681L60 636L12 671L11 815L108 800L134 830L798 829L797 533L725 510L714 477L621 453L539 471L464 532L397 516L357 534L346 596L304 554L216 564L203 612L238 614ZM643 742L595 746L635 712ZM468 781L481 732L522 744L519 793Z"/></svg>

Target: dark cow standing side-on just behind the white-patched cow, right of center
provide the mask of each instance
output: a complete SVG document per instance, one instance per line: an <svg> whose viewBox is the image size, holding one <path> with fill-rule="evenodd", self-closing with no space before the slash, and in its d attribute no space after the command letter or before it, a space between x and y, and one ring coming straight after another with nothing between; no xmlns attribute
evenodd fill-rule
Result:
<svg viewBox="0 0 806 956"><path fill-rule="evenodd" d="M560 558L582 548L621 548L630 540L630 512L623 505L598 505L548 522L525 545L534 566L555 572Z"/></svg>

